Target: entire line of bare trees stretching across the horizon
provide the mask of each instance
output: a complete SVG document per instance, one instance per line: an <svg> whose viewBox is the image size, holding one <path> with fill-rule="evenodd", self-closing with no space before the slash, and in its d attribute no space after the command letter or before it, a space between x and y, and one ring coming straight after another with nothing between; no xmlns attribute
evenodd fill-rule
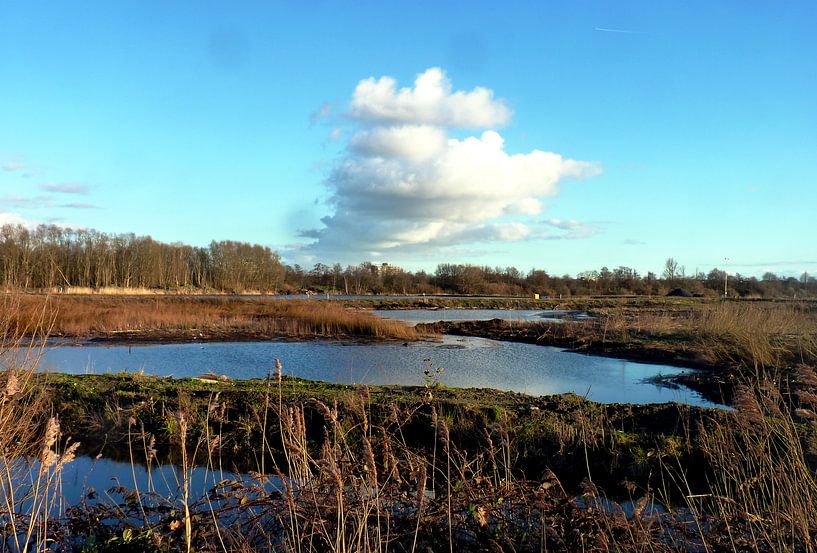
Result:
<svg viewBox="0 0 817 553"><path fill-rule="evenodd" d="M0 227L0 286L4 289L144 288L164 291L343 294L466 294L543 297L724 293L725 273L686 274L670 258L663 272L639 274L629 267L585 271L575 277L542 269L443 263L433 274L364 262L342 267L284 265L266 246L211 242L208 247L167 244L149 236L40 225ZM765 273L762 278L729 274L729 296L817 297L817 279Z"/></svg>

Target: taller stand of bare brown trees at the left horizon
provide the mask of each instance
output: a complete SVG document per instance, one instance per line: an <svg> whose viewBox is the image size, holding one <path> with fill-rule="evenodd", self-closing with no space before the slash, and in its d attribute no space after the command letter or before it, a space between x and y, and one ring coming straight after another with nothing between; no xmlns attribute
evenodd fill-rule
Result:
<svg viewBox="0 0 817 553"><path fill-rule="evenodd" d="M201 248L55 225L0 227L5 288L275 291L284 274L278 254L256 244L226 240Z"/></svg>

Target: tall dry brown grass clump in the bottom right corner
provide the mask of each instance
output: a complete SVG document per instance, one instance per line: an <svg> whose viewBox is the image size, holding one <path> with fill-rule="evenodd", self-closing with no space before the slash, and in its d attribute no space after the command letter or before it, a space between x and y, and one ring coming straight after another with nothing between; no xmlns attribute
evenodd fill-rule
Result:
<svg viewBox="0 0 817 553"><path fill-rule="evenodd" d="M755 381L738 390L737 424L699 428L713 478L710 493L691 506L717 517L722 531L712 534L712 547L817 550L817 472L804 448L817 437L817 375L808 367L800 375L808 390L798 403L773 382Z"/></svg>

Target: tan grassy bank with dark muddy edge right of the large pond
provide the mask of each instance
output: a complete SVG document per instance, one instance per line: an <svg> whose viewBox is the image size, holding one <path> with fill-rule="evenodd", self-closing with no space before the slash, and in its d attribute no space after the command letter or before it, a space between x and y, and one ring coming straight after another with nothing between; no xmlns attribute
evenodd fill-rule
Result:
<svg viewBox="0 0 817 553"><path fill-rule="evenodd" d="M786 302L621 301L567 323L465 321L418 325L426 332L553 345L574 351L704 369L682 379L731 401L747 378L790 382L817 365L817 305Z"/></svg>

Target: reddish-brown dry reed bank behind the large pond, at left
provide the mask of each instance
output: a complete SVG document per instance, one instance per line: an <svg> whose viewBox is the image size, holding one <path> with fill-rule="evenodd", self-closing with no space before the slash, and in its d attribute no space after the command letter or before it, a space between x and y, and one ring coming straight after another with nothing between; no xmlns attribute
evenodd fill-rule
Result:
<svg viewBox="0 0 817 553"><path fill-rule="evenodd" d="M417 330L328 301L239 297L7 296L12 323L45 317L51 336L117 341L366 338L416 340Z"/></svg>

